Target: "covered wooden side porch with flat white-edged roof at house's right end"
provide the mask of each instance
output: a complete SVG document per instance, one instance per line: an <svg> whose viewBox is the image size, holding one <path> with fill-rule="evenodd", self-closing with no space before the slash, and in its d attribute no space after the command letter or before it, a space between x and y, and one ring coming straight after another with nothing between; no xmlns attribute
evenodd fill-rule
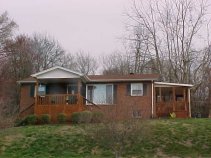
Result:
<svg viewBox="0 0 211 158"><path fill-rule="evenodd" d="M188 84L155 84L155 106L157 117L169 117L175 113L178 118L191 117L190 88Z"/></svg>

